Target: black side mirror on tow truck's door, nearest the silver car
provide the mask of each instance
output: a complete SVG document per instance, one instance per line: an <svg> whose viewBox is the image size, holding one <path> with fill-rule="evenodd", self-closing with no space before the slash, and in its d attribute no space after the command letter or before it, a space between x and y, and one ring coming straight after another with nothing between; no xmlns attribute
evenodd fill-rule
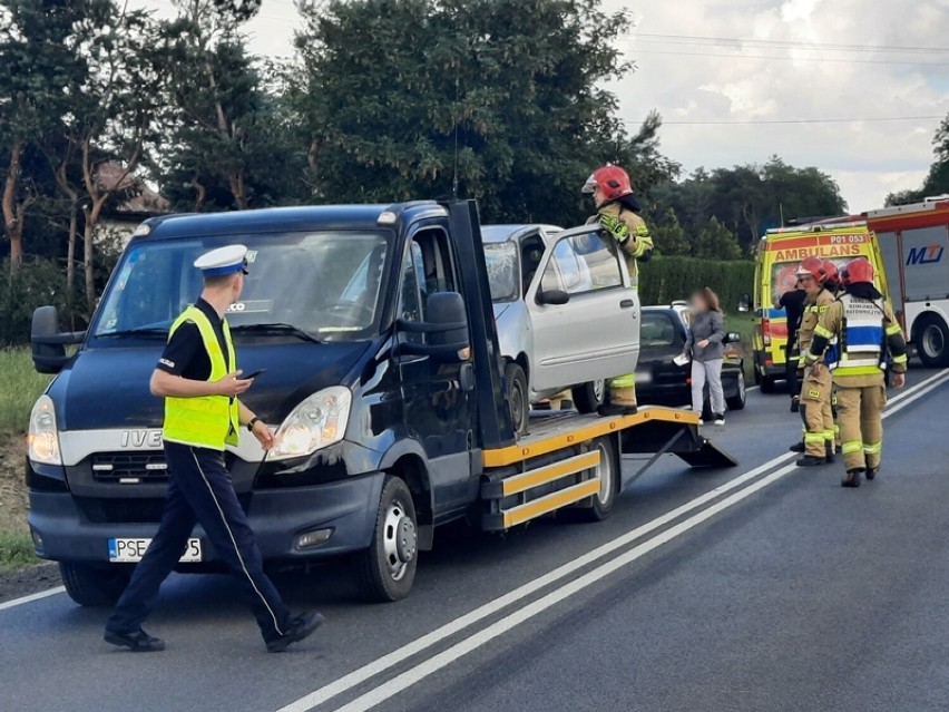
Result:
<svg viewBox="0 0 949 712"><path fill-rule="evenodd" d="M425 321L397 322L404 333L428 334L428 343L404 341L398 352L412 355L431 355L444 361L466 361L470 358L471 341L464 299L458 292L436 292L425 304Z"/></svg>

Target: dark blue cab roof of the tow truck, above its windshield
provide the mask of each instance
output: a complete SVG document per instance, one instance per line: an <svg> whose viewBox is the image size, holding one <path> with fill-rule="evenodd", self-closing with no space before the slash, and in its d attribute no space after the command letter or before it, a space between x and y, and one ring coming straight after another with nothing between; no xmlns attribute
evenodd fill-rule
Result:
<svg viewBox="0 0 949 712"><path fill-rule="evenodd" d="M431 201L395 205L303 205L266 207L226 213L178 213L145 221L136 231L136 240L175 240L179 237L285 233L309 230L378 230L379 217L393 213L394 222L419 214L443 216L444 207ZM146 227L147 226L147 227Z"/></svg>

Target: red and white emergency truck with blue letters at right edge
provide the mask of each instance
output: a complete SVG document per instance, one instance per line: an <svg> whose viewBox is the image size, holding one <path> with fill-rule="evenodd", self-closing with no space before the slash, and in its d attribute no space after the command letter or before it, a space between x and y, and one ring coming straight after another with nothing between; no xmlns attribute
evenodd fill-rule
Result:
<svg viewBox="0 0 949 712"><path fill-rule="evenodd" d="M867 213L891 291L887 295L923 365L949 365L949 195Z"/></svg>

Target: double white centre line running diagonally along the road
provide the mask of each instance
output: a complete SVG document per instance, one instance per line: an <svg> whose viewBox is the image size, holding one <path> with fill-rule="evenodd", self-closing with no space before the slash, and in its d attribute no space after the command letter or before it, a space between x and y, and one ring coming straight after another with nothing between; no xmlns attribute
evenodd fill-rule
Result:
<svg viewBox="0 0 949 712"><path fill-rule="evenodd" d="M901 408L904 408L910 402L917 400L918 398L921 398L932 389L938 388L947 381L949 381L949 370L942 370L936 373L935 375L926 379L924 381L917 383L912 388L902 391L901 393L891 399L890 404L896 404L897 407L888 407L887 412L883 413L883 418L887 418L890 414L898 412ZM735 479L720 485L714 490L711 490L682 505L681 507L677 507L676 509L617 537L616 539L607 542L606 544L599 546L596 549L593 549L584 556L554 569L552 572L545 574L539 578L528 582L527 584L524 584L522 586L511 591L510 593L505 594L503 596L496 598L495 601L491 601L490 603L487 603L467 613L466 615L444 624L443 626L432 631L431 633L428 633L427 635L423 635L422 637L404 645L403 647L400 647L387 655L383 655L382 657L373 661L372 663L369 663L340 677L339 680L327 685L324 685L323 687L320 687L319 690L315 690L314 692L292 702L291 704L281 708L277 712L305 712L307 710L312 710L313 708L319 706L327 702L329 700L332 700L333 698L370 680L379 673L390 670L391 667L408 660L409 657L421 653L425 648L437 645L439 642L464 630L466 627L492 615L493 613L506 608L510 604L520 601L521 598L530 595L531 593L539 591L552 583L556 583L560 578L564 578L565 576L578 570L579 568L583 568L584 566L601 558L606 554L609 554L610 552L614 552L615 549L620 548L626 544L630 544L634 540L645 536L646 534L668 524L669 521L677 519L685 513L701 507L702 505L717 498L718 496L728 490L735 489L744 482L754 479L761 474L766 472L767 470L783 464L784 461L793 457L796 457L796 453L787 452L776 458L773 458L767 462L754 468L753 470L750 470L749 472L740 475ZM761 480L754 482L745 489L742 489L741 491L731 495L726 499L723 499L717 504L708 507L707 509L704 509L699 514L692 516L689 519L686 519L685 521L682 521L671 527L662 534L653 537L648 542L629 549L617 558L610 559L609 562L601 564L597 568L588 572L584 576L564 584L556 592L548 594L542 598L539 598L538 601L534 602L532 604L525 606L520 611L508 615L507 617L502 618L501 621L498 621L485 631L472 634L470 637L457 643L443 653L440 653L433 657L428 659L427 661L423 661L415 667L408 670L407 672L393 677L389 682L383 683L380 686L373 689L372 691L363 694L350 704L341 708L339 712L358 712L361 710L369 710L378 705L380 702L383 702L384 700L415 684L428 675L431 675L438 670L441 670L446 665L453 662L457 657L460 657L461 655L477 650L488 641L497 637L506 631L511 630L520 623L524 623L525 621L532 617L534 615L537 615L547 607L562 601L564 598L567 598L570 595L578 593L586 586L595 583L596 581L599 581L600 578L607 576L614 570L622 568L623 566L636 560L646 553L657 548L662 544L665 544L666 542L672 540L676 536L688 531L689 529L711 518L715 514L727 509L728 507L737 504L738 501L742 501L745 497L751 496L751 494L776 482L779 479L795 469L795 466L786 465L780 470L776 470L772 475L762 478ZM581 582L587 583L581 584Z"/></svg>

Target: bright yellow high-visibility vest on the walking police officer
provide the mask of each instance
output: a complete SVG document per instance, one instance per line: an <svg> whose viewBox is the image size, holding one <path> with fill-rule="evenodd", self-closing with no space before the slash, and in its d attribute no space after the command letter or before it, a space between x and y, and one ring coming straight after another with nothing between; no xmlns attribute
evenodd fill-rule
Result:
<svg viewBox="0 0 949 712"><path fill-rule="evenodd" d="M234 344L231 330L224 321L224 341L227 345L227 360L217 341L208 318L197 308L188 306L168 332L168 339L185 322L194 322L200 333L205 351L211 360L208 381L217 381L227 375L227 364L236 369ZM225 445L237 445L238 439L237 399L226 396L200 396L198 398L165 398L165 428L163 438L172 442L193 445L199 448L223 450Z"/></svg>

